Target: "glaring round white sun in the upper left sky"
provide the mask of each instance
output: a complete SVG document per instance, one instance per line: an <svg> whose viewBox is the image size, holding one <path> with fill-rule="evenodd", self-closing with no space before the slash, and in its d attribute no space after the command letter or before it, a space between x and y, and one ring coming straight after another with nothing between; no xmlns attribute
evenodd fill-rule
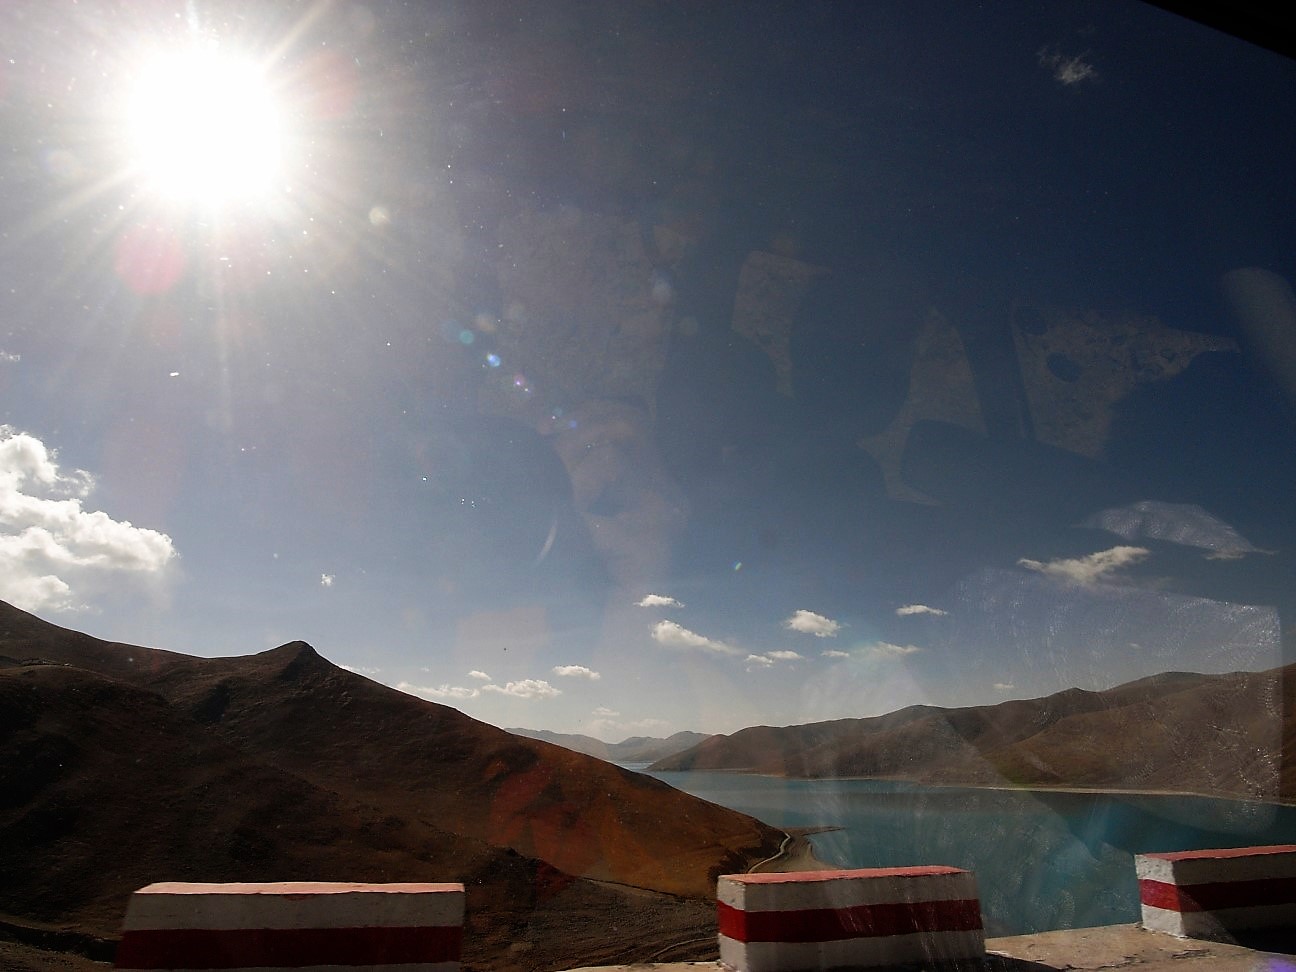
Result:
<svg viewBox="0 0 1296 972"><path fill-rule="evenodd" d="M275 92L254 64L215 48L161 54L127 105L136 171L174 202L251 202L281 175L284 130Z"/></svg>

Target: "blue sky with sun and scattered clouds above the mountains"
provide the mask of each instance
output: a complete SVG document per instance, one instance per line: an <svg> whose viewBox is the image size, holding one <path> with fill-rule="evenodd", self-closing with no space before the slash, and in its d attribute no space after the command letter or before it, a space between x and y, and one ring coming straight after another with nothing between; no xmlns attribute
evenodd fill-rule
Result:
<svg viewBox="0 0 1296 972"><path fill-rule="evenodd" d="M178 9L0 13L0 597L613 740L1290 660L1282 58Z"/></svg>

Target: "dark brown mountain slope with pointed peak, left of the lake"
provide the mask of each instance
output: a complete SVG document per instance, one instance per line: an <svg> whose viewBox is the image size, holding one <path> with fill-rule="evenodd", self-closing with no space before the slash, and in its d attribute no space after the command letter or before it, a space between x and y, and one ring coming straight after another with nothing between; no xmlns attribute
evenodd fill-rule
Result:
<svg viewBox="0 0 1296 972"><path fill-rule="evenodd" d="M0 779L0 937L100 951L157 880L461 880L469 968L618 962L708 934L784 836L302 642L196 658L4 603Z"/></svg>

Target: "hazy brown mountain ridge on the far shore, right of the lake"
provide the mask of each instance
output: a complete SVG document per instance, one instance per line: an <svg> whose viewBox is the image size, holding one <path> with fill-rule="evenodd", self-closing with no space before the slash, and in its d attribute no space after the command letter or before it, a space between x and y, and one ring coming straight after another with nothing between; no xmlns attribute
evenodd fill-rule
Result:
<svg viewBox="0 0 1296 972"><path fill-rule="evenodd" d="M1296 800L1296 665L713 736L653 770ZM1284 758L1286 757L1286 758Z"/></svg>

